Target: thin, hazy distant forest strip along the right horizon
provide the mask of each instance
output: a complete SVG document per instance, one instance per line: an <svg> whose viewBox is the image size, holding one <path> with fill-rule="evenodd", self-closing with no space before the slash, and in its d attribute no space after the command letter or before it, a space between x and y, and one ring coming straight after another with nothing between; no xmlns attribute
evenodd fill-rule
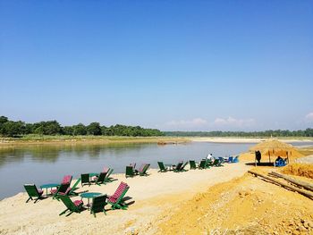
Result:
<svg viewBox="0 0 313 235"><path fill-rule="evenodd" d="M313 137L313 129L265 131L165 131L167 137Z"/></svg>

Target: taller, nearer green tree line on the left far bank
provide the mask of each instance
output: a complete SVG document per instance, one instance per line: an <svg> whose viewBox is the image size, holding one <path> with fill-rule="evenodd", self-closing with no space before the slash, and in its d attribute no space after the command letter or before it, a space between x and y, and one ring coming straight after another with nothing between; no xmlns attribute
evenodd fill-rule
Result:
<svg viewBox="0 0 313 235"><path fill-rule="evenodd" d="M0 135L4 137L19 137L28 134L38 135L69 135L69 136L128 136L128 137L152 137L164 136L164 133L156 129L145 129L140 126L112 125L101 126L99 122L91 122L89 125L79 123L72 126L61 126L59 122L47 121L36 123L13 122L5 116L0 116Z"/></svg>

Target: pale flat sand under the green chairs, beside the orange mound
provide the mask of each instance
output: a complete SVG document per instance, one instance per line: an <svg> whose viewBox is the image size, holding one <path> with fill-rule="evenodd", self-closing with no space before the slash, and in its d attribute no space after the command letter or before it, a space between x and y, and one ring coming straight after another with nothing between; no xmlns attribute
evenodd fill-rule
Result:
<svg viewBox="0 0 313 235"><path fill-rule="evenodd" d="M0 202L0 233L125 234L132 230L140 231L140 234L153 234L157 231L155 221L165 210L173 211L197 193L206 191L216 183L240 177L249 168L245 164L225 164L224 167L180 173L149 170L148 177L137 176L132 179L125 179L123 174L115 174L117 180L110 184L84 186L80 189L112 195L123 180L131 187L126 196L131 197L130 201L134 201L134 204L127 211L107 211L107 215L99 213L97 218L89 214L89 211L69 217L59 216L65 208L62 202L49 197L36 204L26 204L26 193L19 193Z"/></svg>

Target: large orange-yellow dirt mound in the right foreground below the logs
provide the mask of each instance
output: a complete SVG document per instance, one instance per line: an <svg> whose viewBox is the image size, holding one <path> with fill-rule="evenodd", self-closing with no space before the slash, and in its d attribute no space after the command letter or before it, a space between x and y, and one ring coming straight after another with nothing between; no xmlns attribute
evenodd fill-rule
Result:
<svg viewBox="0 0 313 235"><path fill-rule="evenodd" d="M218 184L178 210L164 214L157 234L310 232L313 232L312 200L247 173Z"/></svg>

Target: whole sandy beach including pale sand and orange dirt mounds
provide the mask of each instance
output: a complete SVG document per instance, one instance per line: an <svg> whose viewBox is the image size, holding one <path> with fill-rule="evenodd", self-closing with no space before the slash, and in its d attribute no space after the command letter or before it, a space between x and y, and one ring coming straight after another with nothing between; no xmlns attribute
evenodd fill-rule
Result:
<svg viewBox="0 0 313 235"><path fill-rule="evenodd" d="M36 204L25 203L27 193L21 192L0 201L0 233L310 234L312 199L248 173L251 169L263 173L277 171L313 183L313 164L309 164L312 147L292 151L298 155L293 152L292 164L284 168L255 168L254 164L246 164L254 162L254 156L245 153L237 164L225 163L205 170L189 170L187 165L187 172L149 169L148 176L125 178L120 173L113 174L115 180L106 185L78 185L77 192L88 190L107 195L113 195L121 181L130 186L125 197L127 210L106 206L106 215L97 213L96 218L89 210L59 216L65 209L61 201L47 197ZM83 201L86 205L87 199Z"/></svg>

